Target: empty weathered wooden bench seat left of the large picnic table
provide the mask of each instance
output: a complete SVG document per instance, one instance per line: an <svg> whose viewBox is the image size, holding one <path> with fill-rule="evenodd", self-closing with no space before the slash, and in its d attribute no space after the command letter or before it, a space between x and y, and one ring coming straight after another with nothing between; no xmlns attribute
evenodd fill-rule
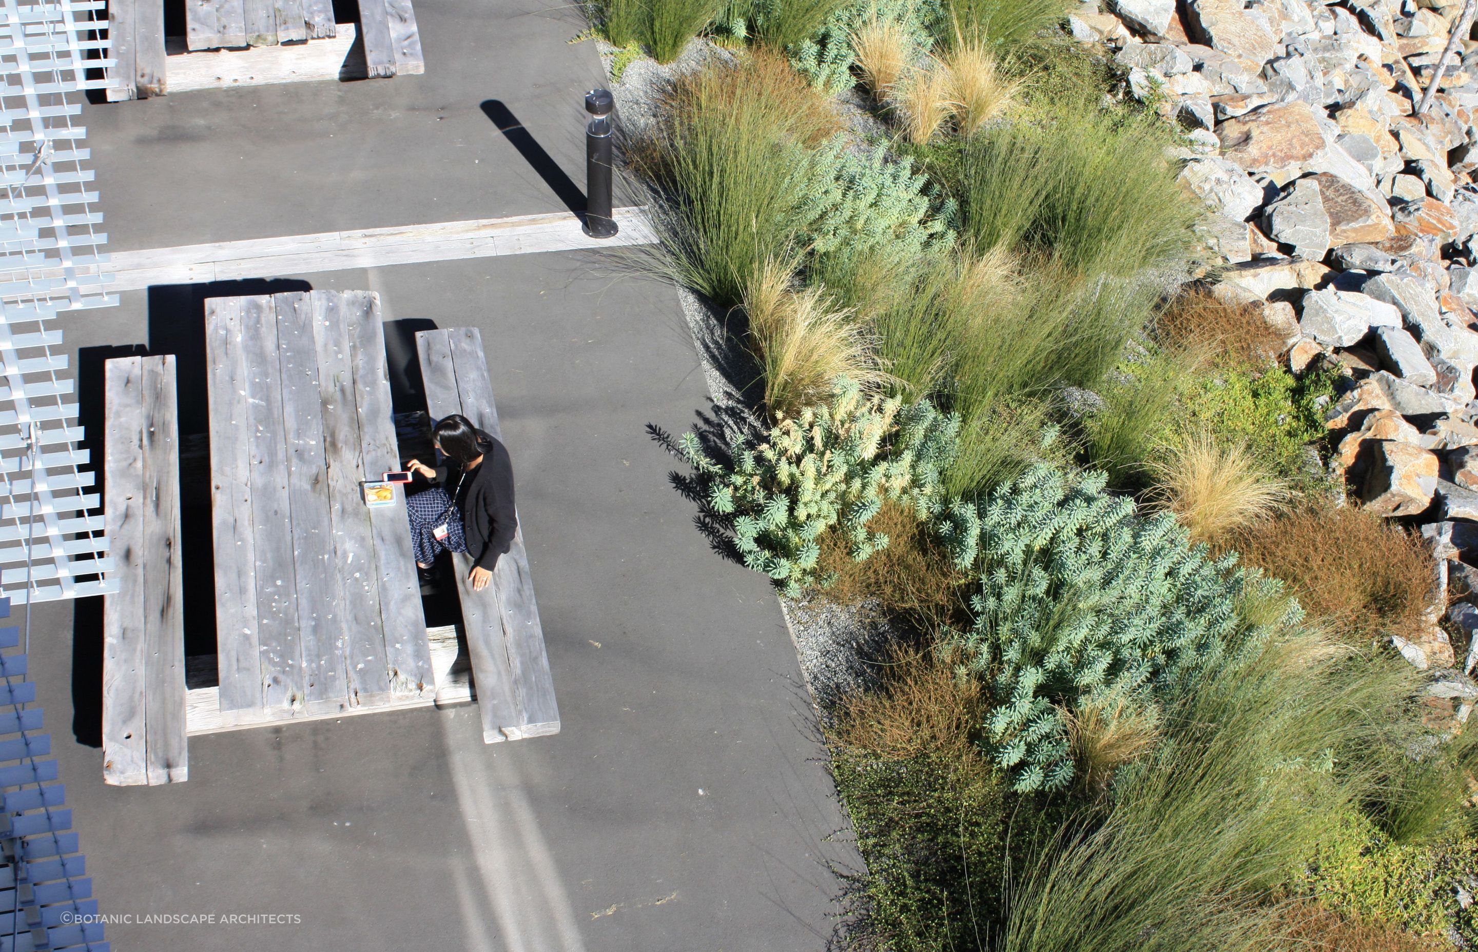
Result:
<svg viewBox="0 0 1478 952"><path fill-rule="evenodd" d="M108 361L103 377L118 578L103 597L103 781L174 783L188 776L174 358Z"/></svg>

